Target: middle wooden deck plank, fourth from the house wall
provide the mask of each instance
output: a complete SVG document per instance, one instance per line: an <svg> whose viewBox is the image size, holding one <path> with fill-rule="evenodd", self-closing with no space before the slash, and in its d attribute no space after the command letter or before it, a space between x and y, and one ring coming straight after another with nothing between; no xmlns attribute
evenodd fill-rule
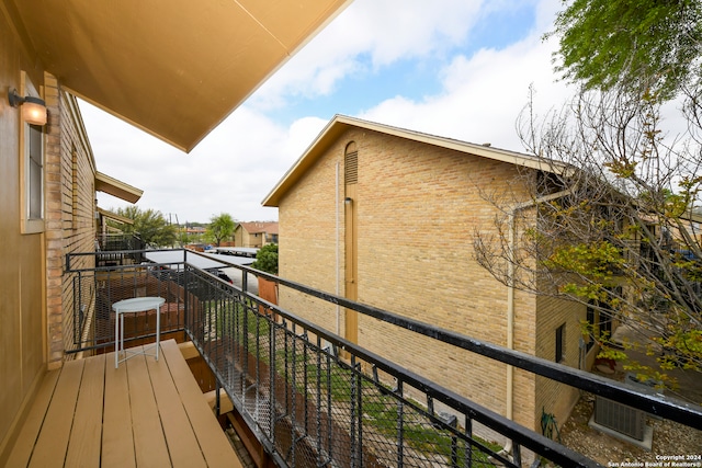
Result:
<svg viewBox="0 0 702 468"><path fill-rule="evenodd" d="M114 363L114 352L105 355ZM127 366L105 365L105 396L102 422L102 466L136 467Z"/></svg>

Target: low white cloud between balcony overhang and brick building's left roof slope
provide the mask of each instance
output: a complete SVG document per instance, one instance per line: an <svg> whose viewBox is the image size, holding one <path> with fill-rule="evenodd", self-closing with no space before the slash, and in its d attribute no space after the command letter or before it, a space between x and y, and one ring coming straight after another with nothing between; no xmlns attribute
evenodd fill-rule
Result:
<svg viewBox="0 0 702 468"><path fill-rule="evenodd" d="M98 170L143 189L138 206L181 222L219 213L278 219L275 209L261 207L263 196L326 124L306 117L286 128L242 106L186 155L89 104L81 110ZM103 208L128 205L104 193L98 199Z"/></svg>

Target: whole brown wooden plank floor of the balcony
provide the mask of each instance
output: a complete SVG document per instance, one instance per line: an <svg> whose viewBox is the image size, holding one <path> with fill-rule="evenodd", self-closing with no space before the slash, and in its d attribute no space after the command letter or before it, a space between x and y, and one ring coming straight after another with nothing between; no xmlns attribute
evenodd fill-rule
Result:
<svg viewBox="0 0 702 468"><path fill-rule="evenodd" d="M241 467L173 340L157 362L114 354L44 378L9 467Z"/></svg>

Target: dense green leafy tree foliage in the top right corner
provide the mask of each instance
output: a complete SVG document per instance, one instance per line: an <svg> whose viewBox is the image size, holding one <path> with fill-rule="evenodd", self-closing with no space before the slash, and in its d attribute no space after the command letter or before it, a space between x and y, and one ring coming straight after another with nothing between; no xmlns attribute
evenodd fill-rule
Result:
<svg viewBox="0 0 702 468"><path fill-rule="evenodd" d="M624 84L668 99L700 79L699 0L575 0L551 34L558 69L587 89Z"/></svg>

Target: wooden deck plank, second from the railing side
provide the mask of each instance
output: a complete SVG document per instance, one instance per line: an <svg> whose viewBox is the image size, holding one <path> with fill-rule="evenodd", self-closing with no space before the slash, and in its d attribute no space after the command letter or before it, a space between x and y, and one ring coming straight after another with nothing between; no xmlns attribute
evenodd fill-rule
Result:
<svg viewBox="0 0 702 468"><path fill-rule="evenodd" d="M188 413L165 359L167 357L161 352L158 362L147 358L146 364L151 376L154 396L161 416L172 466L176 468L206 467L197 437L190 425Z"/></svg>

